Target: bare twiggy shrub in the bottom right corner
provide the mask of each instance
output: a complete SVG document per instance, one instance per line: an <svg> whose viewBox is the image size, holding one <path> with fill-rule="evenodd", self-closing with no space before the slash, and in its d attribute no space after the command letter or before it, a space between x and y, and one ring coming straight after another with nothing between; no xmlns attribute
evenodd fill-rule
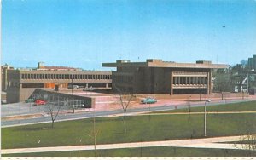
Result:
<svg viewBox="0 0 256 160"><path fill-rule="evenodd" d="M248 156L254 156L256 154L256 134L241 136L240 140L234 146L241 150L247 150Z"/></svg>

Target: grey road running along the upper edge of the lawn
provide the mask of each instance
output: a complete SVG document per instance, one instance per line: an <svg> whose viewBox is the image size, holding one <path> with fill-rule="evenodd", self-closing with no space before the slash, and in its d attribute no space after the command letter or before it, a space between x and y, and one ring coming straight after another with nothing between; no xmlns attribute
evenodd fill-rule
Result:
<svg viewBox="0 0 256 160"><path fill-rule="evenodd" d="M241 101L250 101L250 100L221 100L221 101L213 101L211 102L211 106L217 106L220 104L230 104L230 103L239 103ZM252 101L252 100L251 100ZM190 107L196 107L196 106L204 106L205 102L191 102ZM209 105L209 103L207 103ZM178 106L154 106L150 107L150 111L168 111L168 110L174 110L175 108L187 108L188 104L186 105L178 105ZM127 115L137 114L141 112L148 112L149 107L148 105L145 105L143 108L134 108L127 110ZM84 119L84 118L90 118L90 117L108 117L108 116L115 116L122 114L123 110L114 110L114 111L85 111L85 112L79 112L79 113L67 113L67 114L60 114L55 122L60 121L67 121L67 120L75 120L75 119ZM35 117L30 119L20 119L20 120L2 120L1 125L2 128L4 127L12 127L12 126L20 126L20 125L27 125L27 124L35 124L35 123L50 123L51 117L44 116L44 117Z"/></svg>

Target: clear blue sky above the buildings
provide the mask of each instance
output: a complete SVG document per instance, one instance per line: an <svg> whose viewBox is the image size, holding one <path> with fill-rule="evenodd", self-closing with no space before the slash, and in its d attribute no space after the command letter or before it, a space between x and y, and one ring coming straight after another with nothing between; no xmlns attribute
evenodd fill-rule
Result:
<svg viewBox="0 0 256 160"><path fill-rule="evenodd" d="M255 51L255 0L2 1L1 63L15 67L102 70L102 62L150 58L232 65Z"/></svg>

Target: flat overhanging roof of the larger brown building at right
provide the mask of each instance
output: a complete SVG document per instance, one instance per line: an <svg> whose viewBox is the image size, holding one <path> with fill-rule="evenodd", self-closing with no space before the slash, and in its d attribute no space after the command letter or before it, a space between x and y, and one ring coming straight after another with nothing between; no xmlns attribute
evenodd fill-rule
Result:
<svg viewBox="0 0 256 160"><path fill-rule="evenodd" d="M102 63L103 67L166 67L166 68L227 68L226 64L212 64L211 61L198 60L196 63L176 63L172 61L162 61L148 59L146 62L131 62L130 60L116 60L115 63Z"/></svg>

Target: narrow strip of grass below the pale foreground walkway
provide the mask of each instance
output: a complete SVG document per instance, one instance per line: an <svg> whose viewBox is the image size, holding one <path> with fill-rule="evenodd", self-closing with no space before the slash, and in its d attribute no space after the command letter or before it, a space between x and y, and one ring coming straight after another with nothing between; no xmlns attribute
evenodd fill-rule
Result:
<svg viewBox="0 0 256 160"><path fill-rule="evenodd" d="M94 151L59 151L3 154L2 157L94 157ZM246 157L256 156L255 151L178 148L178 147L144 147L113 150L97 150L97 157Z"/></svg>

